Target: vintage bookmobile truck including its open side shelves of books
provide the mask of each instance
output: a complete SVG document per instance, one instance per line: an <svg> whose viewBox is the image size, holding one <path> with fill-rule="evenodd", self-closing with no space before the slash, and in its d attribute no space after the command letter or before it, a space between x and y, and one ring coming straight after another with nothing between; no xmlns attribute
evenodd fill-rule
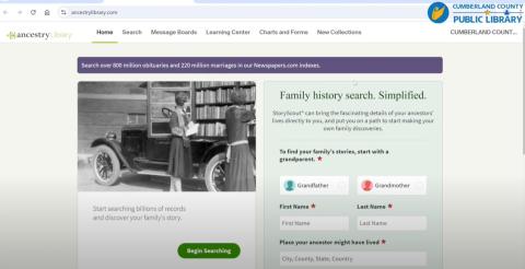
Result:
<svg viewBox="0 0 525 269"><path fill-rule="evenodd" d="M223 190L228 150L224 115L232 105L230 94L245 91L245 108L253 110L256 84L244 81L154 81L142 85L145 87L147 124L126 124L119 134L112 129L105 137L92 141L95 180L106 186L118 184L124 171L168 176L170 119L176 94L184 93L188 96L184 113L197 128L190 137L194 177L188 179L205 180L208 191ZM255 139L254 121L248 124L248 142L254 156Z"/></svg>

